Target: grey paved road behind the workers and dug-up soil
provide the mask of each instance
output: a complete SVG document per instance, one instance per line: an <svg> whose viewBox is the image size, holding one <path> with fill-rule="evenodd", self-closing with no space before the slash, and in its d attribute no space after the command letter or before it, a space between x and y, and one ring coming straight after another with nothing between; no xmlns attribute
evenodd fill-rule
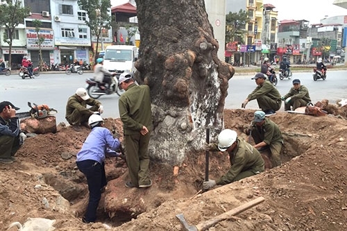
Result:
<svg viewBox="0 0 347 231"><path fill-rule="evenodd" d="M23 80L18 75L0 76L0 100L11 101L21 108L19 112L29 110L27 102L47 104L58 110L57 121L65 121L65 105L67 98L74 94L78 87L85 87L85 78L91 77L91 73L81 76L71 74L67 76L64 72L60 74L41 74L34 79ZM241 108L241 103L246 96L256 87L252 76L234 76L229 80L228 97L225 108ZM301 84L305 85L311 95L313 102L328 99L335 103L337 99L347 99L347 71L330 71L326 80L314 81L311 72L293 73L294 78L299 78ZM284 95L291 87L291 80L278 80L277 88ZM99 100L103 103L105 112L103 117L119 117L117 94L101 96ZM248 109L257 109L257 102L251 101Z"/></svg>

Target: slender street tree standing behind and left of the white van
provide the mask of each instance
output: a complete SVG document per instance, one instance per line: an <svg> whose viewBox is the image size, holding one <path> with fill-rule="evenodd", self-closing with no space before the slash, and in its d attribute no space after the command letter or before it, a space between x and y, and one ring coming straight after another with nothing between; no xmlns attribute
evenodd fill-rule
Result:
<svg viewBox="0 0 347 231"><path fill-rule="evenodd" d="M81 10L87 12L88 17L85 24L90 28L90 37L92 38L92 35L95 35L96 37L95 52L93 50L95 60L103 28L107 30L111 28L111 2L110 0L78 0L77 2Z"/></svg>

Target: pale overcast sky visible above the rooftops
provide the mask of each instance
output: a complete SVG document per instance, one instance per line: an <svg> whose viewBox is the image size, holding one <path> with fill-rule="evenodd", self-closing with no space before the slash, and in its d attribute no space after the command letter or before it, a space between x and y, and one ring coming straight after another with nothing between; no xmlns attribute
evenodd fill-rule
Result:
<svg viewBox="0 0 347 231"><path fill-rule="evenodd" d="M325 15L328 17L347 15L347 9L332 5L335 0L264 0L264 4L270 3L278 11L278 20L305 19L310 24L318 24ZM128 0L111 0L112 6L127 3Z"/></svg>

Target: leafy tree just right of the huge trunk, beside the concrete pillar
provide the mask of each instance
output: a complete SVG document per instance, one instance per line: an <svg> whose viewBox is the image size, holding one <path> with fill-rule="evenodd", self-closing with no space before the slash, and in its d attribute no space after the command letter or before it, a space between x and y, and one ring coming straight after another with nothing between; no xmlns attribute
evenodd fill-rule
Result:
<svg viewBox="0 0 347 231"><path fill-rule="evenodd" d="M248 14L245 10L239 12L229 12L226 15L226 43L239 41L244 44L245 26L249 22Z"/></svg>

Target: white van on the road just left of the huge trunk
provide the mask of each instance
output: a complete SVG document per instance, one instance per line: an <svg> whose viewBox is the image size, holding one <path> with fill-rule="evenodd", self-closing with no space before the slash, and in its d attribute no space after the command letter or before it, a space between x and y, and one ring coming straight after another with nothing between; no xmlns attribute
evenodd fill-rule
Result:
<svg viewBox="0 0 347 231"><path fill-rule="evenodd" d="M138 50L136 46L112 45L107 46L103 56L103 67L108 71L117 71L117 75L123 72L133 74L134 63L137 60Z"/></svg>

